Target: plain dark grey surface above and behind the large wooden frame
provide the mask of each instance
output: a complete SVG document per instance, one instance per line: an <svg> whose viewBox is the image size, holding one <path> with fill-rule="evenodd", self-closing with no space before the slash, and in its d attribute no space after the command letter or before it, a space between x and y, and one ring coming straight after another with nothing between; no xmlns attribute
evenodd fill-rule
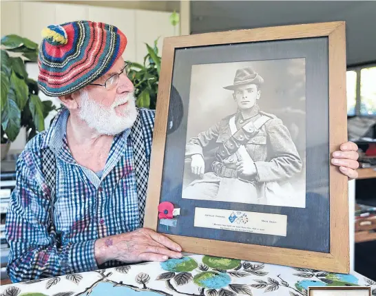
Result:
<svg viewBox="0 0 376 296"><path fill-rule="evenodd" d="M376 61L376 1L191 1L191 33L346 21L348 65Z"/></svg>

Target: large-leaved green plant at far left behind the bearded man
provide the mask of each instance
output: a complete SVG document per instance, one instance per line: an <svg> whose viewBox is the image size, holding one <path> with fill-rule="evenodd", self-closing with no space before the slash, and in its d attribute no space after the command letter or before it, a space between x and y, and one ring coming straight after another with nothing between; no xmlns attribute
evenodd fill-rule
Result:
<svg viewBox="0 0 376 296"><path fill-rule="evenodd" d="M38 52L29 39L15 34L1 38L1 159L21 127L30 140L43 131L45 118L55 109L51 101L41 101L38 84L25 70L25 61L36 62Z"/></svg>

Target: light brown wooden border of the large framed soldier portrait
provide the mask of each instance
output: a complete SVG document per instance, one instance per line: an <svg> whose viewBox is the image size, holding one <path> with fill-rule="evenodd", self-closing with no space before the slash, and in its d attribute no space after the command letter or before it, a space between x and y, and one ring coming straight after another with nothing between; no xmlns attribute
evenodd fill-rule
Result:
<svg viewBox="0 0 376 296"><path fill-rule="evenodd" d="M326 165L323 167L328 169L329 180L327 180L327 182L328 191L330 192L330 206L328 210L329 224L327 227L328 237L330 237L328 238L328 251L307 251L304 249L291 249L278 246L227 242L187 235L174 235L166 232L164 232L164 234L174 242L180 244L182 250L187 253L199 253L270 264L313 268L337 273L348 273L350 271L348 179L346 176L342 175L336 167L330 165L330 156L333 151L339 149L340 144L347 140L346 45L344 22L286 25L273 28L214 32L170 37L164 40L154 139L152 143L152 158L149 171L147 204L145 209L145 227L158 231L159 219L157 208L158 204L163 201L161 187L164 176L164 161L167 161L165 159L165 153L168 151L165 151L165 145L167 124L169 123L169 115L171 116L171 114L169 114L169 107L171 107L171 83L173 79L174 63L176 63L176 52L184 49L209 48L211 46L220 45L255 45L257 43L295 40L305 42L317 38L325 39L327 42L328 95L326 104L328 112L328 145L325 149L328 151L328 154L323 156L326 162ZM323 72L323 75L324 74ZM307 91L307 93L309 92ZM307 137L307 139L309 139L309 137ZM184 154L183 151L174 151L174 153L178 155L180 155L180 153ZM174 205L177 207L176 204ZM184 213L184 209L181 210L182 213ZM180 215L182 215L182 213ZM311 225L311 227L313 229L315 225ZM309 231L304 231L304 233L307 232Z"/></svg>

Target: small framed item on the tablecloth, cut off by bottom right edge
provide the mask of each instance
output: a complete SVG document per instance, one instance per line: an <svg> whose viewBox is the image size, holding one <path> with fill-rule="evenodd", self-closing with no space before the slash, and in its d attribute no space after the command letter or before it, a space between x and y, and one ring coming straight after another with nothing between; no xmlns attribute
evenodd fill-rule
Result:
<svg viewBox="0 0 376 296"><path fill-rule="evenodd" d="M308 296L370 296L370 287L309 287Z"/></svg>

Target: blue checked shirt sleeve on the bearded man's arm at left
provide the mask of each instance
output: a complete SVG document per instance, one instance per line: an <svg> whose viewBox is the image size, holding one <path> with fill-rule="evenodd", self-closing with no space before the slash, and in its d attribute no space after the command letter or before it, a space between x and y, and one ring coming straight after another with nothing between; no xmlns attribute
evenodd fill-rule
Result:
<svg viewBox="0 0 376 296"><path fill-rule="evenodd" d="M27 159L27 160L25 160ZM28 153L17 160L16 187L6 215L10 244L7 272L12 282L98 269L95 240L61 246L49 232L50 197Z"/></svg>

